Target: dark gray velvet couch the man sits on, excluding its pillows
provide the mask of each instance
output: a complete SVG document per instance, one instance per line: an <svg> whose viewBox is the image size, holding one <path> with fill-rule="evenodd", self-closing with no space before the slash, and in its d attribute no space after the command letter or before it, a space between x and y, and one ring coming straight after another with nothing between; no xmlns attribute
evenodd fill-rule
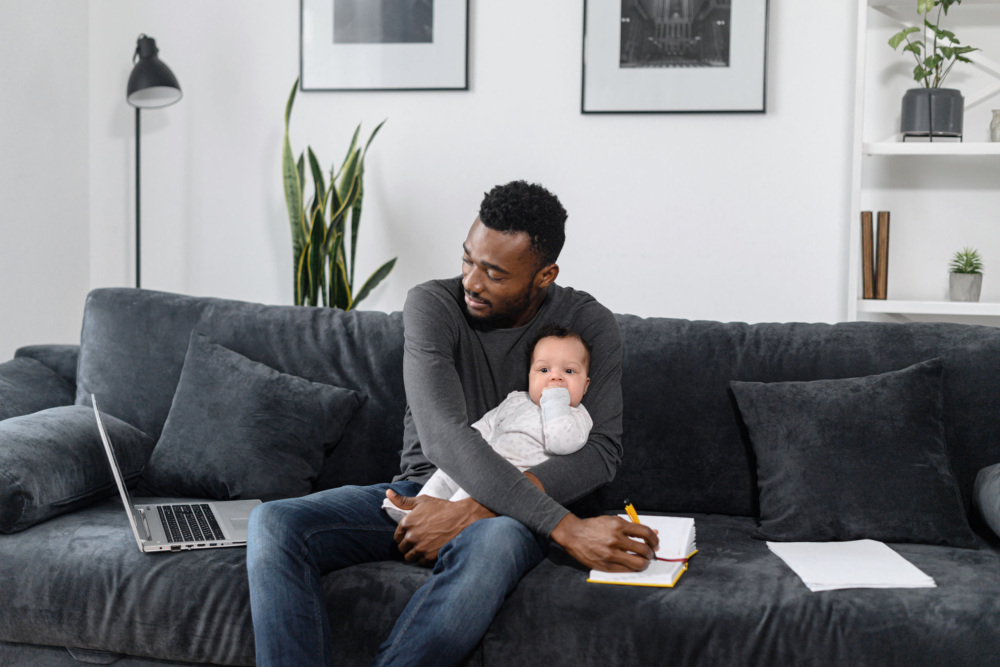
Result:
<svg viewBox="0 0 1000 667"><path fill-rule="evenodd" d="M628 496L642 512L694 516L700 552L677 587L660 589L588 584L582 567L552 549L505 602L469 664L998 664L998 540L972 502L977 473L1000 463L1000 329L628 315L619 324L625 459L614 482L575 509L620 510ZM94 392L103 411L155 441L192 331L366 397L317 489L387 481L398 470L405 408L398 313L96 290L78 348L18 351L26 367L18 373L37 361L70 389L51 378L34 394L22 384L18 405L86 405ZM860 377L931 358L945 369L948 457L975 548L894 544L937 581L934 589L809 592L751 537L760 511L756 459L729 382ZM0 407L13 401L3 393L3 372ZM42 405L25 403L28 395ZM17 428L7 432L32 432L39 414L11 417ZM43 440L39 448L51 444ZM881 474L898 472L887 466ZM996 493L986 486L981 498ZM0 535L0 664L253 664L245 551L142 554L110 491ZM416 566L378 563L326 577L342 664L367 664L427 576Z"/></svg>

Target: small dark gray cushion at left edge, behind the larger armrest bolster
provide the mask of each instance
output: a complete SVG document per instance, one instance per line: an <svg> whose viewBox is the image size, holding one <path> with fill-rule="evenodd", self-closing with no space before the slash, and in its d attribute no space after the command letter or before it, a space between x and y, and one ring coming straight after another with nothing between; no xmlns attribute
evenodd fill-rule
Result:
<svg viewBox="0 0 1000 667"><path fill-rule="evenodd" d="M73 404L73 385L35 359L0 364L0 420Z"/></svg>

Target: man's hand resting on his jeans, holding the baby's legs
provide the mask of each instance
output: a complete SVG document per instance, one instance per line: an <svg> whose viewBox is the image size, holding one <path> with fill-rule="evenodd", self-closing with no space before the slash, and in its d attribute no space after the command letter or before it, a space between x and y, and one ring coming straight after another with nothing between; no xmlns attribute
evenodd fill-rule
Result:
<svg viewBox="0 0 1000 667"><path fill-rule="evenodd" d="M424 566L432 565L441 547L474 521L496 516L472 498L451 502L401 496L392 489L385 495L396 507L412 510L399 522L394 539L404 559Z"/></svg>

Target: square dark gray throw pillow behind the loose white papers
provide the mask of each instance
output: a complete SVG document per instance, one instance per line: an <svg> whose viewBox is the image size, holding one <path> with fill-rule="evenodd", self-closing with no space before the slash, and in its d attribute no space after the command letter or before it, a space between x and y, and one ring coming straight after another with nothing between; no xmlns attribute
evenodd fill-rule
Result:
<svg viewBox="0 0 1000 667"><path fill-rule="evenodd" d="M945 449L938 359L869 377L730 382L775 541L973 547Z"/></svg>

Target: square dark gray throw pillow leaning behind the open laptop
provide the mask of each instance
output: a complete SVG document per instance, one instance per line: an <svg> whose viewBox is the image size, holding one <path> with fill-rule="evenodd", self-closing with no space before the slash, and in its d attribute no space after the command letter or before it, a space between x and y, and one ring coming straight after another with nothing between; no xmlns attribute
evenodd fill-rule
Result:
<svg viewBox="0 0 1000 667"><path fill-rule="evenodd" d="M143 481L160 496L305 495L361 402L196 333Z"/></svg>

